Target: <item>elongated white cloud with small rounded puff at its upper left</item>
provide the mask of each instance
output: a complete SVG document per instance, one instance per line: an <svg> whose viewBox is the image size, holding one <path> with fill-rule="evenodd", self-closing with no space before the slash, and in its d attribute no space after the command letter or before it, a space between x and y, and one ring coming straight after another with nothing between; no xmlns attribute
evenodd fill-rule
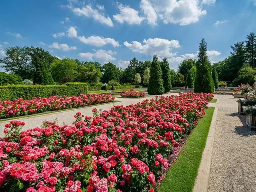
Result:
<svg viewBox="0 0 256 192"><path fill-rule="evenodd" d="M93 45L96 47L102 47L106 44L111 44L113 47L120 47L119 42L115 41L112 38L104 38L99 36L91 36L91 37L84 37L84 36L77 36L77 30L74 27L70 27L68 30L69 37L76 37L84 44Z"/></svg>

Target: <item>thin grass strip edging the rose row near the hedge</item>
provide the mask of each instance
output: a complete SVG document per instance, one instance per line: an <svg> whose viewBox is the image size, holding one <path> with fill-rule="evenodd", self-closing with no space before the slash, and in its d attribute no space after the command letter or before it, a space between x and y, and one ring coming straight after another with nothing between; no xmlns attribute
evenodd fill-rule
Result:
<svg viewBox="0 0 256 192"><path fill-rule="evenodd" d="M63 112L63 111L71 111L71 110L83 109L83 108L94 107L94 106L99 106L99 105L106 105L106 104L111 104L111 103L118 103L118 102L121 102L121 101L113 101L113 102L109 102L109 103L101 103L101 104L97 104L97 105L89 105L89 106L85 106L85 107L63 109L63 110L58 110L58 111L47 111L47 112L44 112L44 113L36 113L36 114L32 114L32 115L24 115L24 116L18 116L18 117L13 117L13 118L0 119L0 122L14 120L14 119L28 118L28 117L38 116L38 115L46 115L46 114L50 114L50 113L58 113L58 112Z"/></svg>

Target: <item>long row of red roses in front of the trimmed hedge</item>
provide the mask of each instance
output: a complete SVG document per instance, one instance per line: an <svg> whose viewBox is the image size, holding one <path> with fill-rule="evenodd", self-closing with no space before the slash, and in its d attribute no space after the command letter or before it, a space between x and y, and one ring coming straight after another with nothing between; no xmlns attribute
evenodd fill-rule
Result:
<svg viewBox="0 0 256 192"><path fill-rule="evenodd" d="M114 99L109 94L81 94L72 97L51 96L42 99L20 98L13 101L0 101L0 119L108 103L113 102Z"/></svg>

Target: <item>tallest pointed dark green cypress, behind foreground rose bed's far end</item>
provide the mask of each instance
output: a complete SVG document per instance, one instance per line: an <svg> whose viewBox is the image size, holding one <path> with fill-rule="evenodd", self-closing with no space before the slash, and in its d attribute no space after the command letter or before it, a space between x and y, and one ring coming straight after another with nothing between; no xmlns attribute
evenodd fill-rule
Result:
<svg viewBox="0 0 256 192"><path fill-rule="evenodd" d="M197 75L195 81L196 93L213 93L214 81L211 76L211 64L207 55L207 44L202 39L199 46L198 60L196 63Z"/></svg>

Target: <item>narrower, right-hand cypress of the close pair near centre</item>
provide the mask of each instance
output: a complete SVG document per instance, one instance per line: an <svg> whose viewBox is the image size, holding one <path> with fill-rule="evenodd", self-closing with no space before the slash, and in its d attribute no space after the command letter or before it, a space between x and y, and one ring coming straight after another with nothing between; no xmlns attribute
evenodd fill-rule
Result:
<svg viewBox="0 0 256 192"><path fill-rule="evenodd" d="M167 58L164 58L161 63L162 68L162 79L164 81L164 93L168 93L172 89L172 79L170 74L170 66L167 61Z"/></svg>

